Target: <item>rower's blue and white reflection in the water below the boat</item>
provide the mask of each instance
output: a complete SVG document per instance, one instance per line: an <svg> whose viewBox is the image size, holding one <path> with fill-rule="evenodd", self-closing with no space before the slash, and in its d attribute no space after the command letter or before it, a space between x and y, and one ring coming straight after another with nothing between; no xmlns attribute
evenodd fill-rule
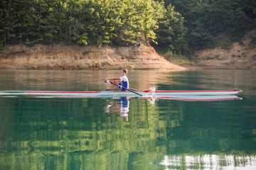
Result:
<svg viewBox="0 0 256 170"><path fill-rule="evenodd" d="M122 120L128 121L128 112L129 112L129 98L122 97L119 101L111 101L111 105L106 106L105 113L114 113L120 112Z"/></svg>

